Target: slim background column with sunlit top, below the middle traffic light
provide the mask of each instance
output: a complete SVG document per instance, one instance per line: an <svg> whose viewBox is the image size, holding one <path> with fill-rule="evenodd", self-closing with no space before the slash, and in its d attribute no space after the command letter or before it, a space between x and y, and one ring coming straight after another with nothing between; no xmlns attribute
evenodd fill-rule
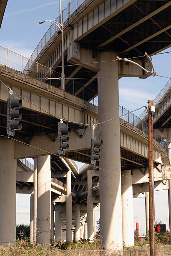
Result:
<svg viewBox="0 0 171 256"><path fill-rule="evenodd" d="M66 174L66 241L72 242L71 171Z"/></svg>

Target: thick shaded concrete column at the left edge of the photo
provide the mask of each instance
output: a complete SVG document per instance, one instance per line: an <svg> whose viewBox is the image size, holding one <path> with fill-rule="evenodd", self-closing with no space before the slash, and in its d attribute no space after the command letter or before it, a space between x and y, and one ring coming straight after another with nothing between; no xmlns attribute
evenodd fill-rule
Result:
<svg viewBox="0 0 171 256"><path fill-rule="evenodd" d="M14 141L0 140L0 241L15 242L16 171ZM0 243L8 245L9 243ZM10 243L10 245L13 243Z"/></svg>

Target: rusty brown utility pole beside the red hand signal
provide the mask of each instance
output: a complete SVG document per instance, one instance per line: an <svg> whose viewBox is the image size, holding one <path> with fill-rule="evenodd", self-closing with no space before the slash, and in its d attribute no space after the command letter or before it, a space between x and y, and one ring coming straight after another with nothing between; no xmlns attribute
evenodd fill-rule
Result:
<svg viewBox="0 0 171 256"><path fill-rule="evenodd" d="M153 172L153 100L148 100L148 176L149 176L149 232L150 256L156 256L154 223L154 172Z"/></svg>

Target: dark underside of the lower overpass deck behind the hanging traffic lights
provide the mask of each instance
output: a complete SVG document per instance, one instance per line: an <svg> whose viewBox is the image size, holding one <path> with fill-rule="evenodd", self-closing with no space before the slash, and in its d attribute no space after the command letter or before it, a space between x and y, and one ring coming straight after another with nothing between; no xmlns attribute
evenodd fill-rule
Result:
<svg viewBox="0 0 171 256"><path fill-rule="evenodd" d="M6 136L6 111L7 105L5 102L0 102L0 134ZM15 138L25 143L30 143L33 136L46 134L54 138L54 134L58 132L58 120L45 114L36 113L25 108L23 112L23 128L21 131L15 131ZM70 127L75 127L73 124L68 124ZM74 131L73 131L74 132ZM54 143L57 143L55 141ZM57 148L57 146L56 146ZM81 161L90 164L90 148L81 149L79 151L66 152L66 157L75 161ZM98 163L98 162L97 162ZM64 172L67 169L65 164L58 158L58 156L51 156L52 170L60 170ZM137 167L148 166L148 159L139 156L131 151L121 148L121 168L135 169Z"/></svg>

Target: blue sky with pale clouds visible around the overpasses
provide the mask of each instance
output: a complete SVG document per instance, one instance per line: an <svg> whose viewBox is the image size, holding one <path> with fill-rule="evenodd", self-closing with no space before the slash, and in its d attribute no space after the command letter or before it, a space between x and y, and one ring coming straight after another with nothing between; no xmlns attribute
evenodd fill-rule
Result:
<svg viewBox="0 0 171 256"><path fill-rule="evenodd" d="M62 1L62 10L68 0ZM39 20L54 20L59 14L59 2L47 0L8 0L0 29L0 46L18 54L30 57L50 24L40 25ZM166 51L171 51L167 49ZM2 63L0 59L0 63ZM152 57L153 66L158 74L171 76L171 54ZM148 79L122 78L119 80L119 102L124 108L133 110L153 100L168 79L149 77ZM139 115L142 111L135 113ZM167 190L156 192L156 220L166 223L168 228ZM140 222L140 233L145 233L145 201L134 199L134 223ZM30 195L17 195L17 223L29 223ZM144 214L142 214L144 212ZM98 215L97 215L98 218ZM134 225L135 228L135 225Z"/></svg>

